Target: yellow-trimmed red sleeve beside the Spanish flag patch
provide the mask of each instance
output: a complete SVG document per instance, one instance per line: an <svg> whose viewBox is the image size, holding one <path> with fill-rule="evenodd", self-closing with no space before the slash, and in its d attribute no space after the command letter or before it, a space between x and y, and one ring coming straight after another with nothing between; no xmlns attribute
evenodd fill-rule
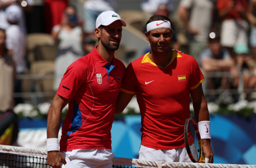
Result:
<svg viewBox="0 0 256 168"><path fill-rule="evenodd" d="M197 61L192 58L191 59L191 77L189 82L189 89L197 88L203 81L204 75L202 74Z"/></svg>

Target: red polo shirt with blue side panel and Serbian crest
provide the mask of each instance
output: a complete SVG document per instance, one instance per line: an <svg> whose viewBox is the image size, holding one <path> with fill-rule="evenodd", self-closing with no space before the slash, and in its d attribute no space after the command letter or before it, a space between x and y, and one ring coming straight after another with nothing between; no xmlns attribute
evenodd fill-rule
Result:
<svg viewBox="0 0 256 168"><path fill-rule="evenodd" d="M114 68L108 74L107 63L95 47L72 63L64 74L57 94L70 101L62 126L60 151L111 149L110 130L125 66L114 59Z"/></svg>

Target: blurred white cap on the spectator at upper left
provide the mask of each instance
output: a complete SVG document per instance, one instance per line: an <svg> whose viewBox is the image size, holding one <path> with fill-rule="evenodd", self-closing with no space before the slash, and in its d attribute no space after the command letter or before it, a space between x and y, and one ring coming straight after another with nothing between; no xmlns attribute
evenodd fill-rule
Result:
<svg viewBox="0 0 256 168"><path fill-rule="evenodd" d="M10 5L5 9L5 15L9 22L17 23L21 20L22 9L17 5Z"/></svg>

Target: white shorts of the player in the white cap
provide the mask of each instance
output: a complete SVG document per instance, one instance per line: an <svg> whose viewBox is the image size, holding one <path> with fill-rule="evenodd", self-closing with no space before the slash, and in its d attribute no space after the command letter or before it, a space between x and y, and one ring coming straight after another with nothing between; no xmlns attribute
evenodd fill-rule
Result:
<svg viewBox="0 0 256 168"><path fill-rule="evenodd" d="M111 149L75 149L61 152L66 168L112 168Z"/></svg>

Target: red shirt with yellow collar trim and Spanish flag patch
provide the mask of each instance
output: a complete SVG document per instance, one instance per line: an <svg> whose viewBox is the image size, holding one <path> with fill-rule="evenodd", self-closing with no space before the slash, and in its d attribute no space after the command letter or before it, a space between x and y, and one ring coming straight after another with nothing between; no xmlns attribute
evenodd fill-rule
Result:
<svg viewBox="0 0 256 168"><path fill-rule="evenodd" d="M141 113L141 144L154 149L184 147L190 88L196 88L204 76L190 55L174 53L165 68L148 62L146 55L128 65L121 86L121 91L136 93Z"/></svg>

